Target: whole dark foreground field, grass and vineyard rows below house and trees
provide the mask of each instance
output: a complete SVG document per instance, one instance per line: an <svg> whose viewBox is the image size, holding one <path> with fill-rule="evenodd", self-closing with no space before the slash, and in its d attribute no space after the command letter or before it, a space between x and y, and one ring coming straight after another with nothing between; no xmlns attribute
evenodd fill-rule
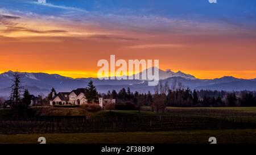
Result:
<svg viewBox="0 0 256 155"><path fill-rule="evenodd" d="M0 110L1 111L1 110ZM44 109L43 111L48 111ZM0 119L0 143L256 143L256 108L171 108L164 114L143 111L85 112L61 109L27 120ZM76 114L70 115L75 111ZM1 112L0 112L1 113ZM2 111L3 113L3 111ZM39 112L41 115L42 109ZM57 115L56 115L57 114ZM61 114L63 115L63 114Z"/></svg>

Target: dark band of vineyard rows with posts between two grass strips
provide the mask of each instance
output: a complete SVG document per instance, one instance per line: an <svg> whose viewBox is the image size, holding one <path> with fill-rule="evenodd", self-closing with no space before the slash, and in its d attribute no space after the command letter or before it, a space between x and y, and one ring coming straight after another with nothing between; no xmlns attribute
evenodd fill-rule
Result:
<svg viewBox="0 0 256 155"><path fill-rule="evenodd" d="M256 128L256 124L227 119L185 116L36 116L0 120L0 134L172 131L194 129Z"/></svg>

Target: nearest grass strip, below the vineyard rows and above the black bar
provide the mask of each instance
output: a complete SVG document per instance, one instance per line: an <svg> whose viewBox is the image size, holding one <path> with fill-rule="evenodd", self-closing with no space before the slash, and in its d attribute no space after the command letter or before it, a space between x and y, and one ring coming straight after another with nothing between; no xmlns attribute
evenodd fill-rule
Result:
<svg viewBox="0 0 256 155"><path fill-rule="evenodd" d="M217 138L218 144L256 143L256 129L0 135L0 142L36 144L41 136L46 137L49 144L209 144L212 136Z"/></svg>

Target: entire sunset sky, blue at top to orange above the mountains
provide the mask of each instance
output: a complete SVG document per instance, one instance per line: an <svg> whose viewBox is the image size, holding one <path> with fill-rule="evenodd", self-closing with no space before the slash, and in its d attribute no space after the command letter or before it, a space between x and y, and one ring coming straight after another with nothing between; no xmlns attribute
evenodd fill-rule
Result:
<svg viewBox="0 0 256 155"><path fill-rule="evenodd" d="M96 77L97 62L158 59L201 79L256 78L254 0L2 0L0 73Z"/></svg>

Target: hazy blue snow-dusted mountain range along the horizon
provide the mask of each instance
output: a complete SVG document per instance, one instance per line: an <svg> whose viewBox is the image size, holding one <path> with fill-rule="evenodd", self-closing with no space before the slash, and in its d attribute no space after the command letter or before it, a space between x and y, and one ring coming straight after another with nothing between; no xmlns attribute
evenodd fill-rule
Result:
<svg viewBox="0 0 256 155"><path fill-rule="evenodd" d="M144 70L143 72L147 72ZM138 74L142 74L138 73ZM59 74L47 73L27 73L19 72L22 78L21 85L23 89L28 89L34 95L47 95L52 87L57 92L71 91L73 89L86 87L88 82L92 80L96 85L97 90L105 93L108 90L119 91L123 87L130 87L131 91L139 91L146 93L147 91L154 92L154 86L148 86L148 81L133 79L133 80L100 80L98 78L70 78L60 76ZM9 97L13 83L14 72L9 71L0 74L0 97ZM190 74L183 72L172 72L171 70L160 70L159 79L161 82L168 82L170 87L172 83L182 83L184 88L190 89L209 89L209 90L225 90L225 91L240 91L240 90L256 90L255 79L240 79L235 77L222 77L216 79L199 79Z"/></svg>

